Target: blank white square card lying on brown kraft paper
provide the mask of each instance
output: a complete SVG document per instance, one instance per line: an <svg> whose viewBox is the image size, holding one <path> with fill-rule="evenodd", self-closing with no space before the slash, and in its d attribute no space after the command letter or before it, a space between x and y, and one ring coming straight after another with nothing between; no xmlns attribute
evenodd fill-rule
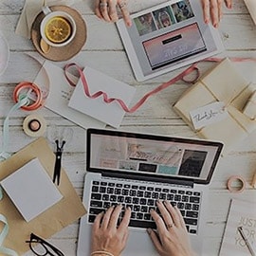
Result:
<svg viewBox="0 0 256 256"><path fill-rule="evenodd" d="M10 174L0 184L27 222L63 197L38 158Z"/></svg>

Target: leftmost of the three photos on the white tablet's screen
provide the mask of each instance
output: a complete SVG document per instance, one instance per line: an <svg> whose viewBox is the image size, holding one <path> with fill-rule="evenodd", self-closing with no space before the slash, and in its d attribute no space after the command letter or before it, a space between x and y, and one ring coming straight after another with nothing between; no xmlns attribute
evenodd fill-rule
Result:
<svg viewBox="0 0 256 256"><path fill-rule="evenodd" d="M140 36L156 30L155 21L151 12L135 18L134 22Z"/></svg>

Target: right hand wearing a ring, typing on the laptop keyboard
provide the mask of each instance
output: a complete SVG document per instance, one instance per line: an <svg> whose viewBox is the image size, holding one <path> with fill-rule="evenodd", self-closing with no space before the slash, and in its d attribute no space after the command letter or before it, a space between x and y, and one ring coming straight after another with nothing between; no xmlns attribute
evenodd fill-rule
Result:
<svg viewBox="0 0 256 256"><path fill-rule="evenodd" d="M162 217L155 210L151 211L156 231L148 229L148 233L158 253L161 256L192 256L189 234L180 211L167 201L156 204Z"/></svg>

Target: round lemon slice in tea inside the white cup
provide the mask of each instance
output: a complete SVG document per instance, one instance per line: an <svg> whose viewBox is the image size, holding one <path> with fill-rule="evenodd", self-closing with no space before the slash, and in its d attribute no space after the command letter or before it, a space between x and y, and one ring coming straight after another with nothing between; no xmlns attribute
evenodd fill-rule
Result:
<svg viewBox="0 0 256 256"><path fill-rule="evenodd" d="M53 17L46 23L46 38L55 44L64 43L71 35L71 26L63 17Z"/></svg>

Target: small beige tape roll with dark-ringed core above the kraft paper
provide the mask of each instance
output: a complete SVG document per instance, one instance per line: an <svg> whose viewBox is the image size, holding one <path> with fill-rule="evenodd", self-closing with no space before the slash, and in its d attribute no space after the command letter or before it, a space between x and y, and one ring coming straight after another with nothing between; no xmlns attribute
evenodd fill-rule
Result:
<svg viewBox="0 0 256 256"><path fill-rule="evenodd" d="M24 119L23 130L29 137L41 137L46 133L46 119L31 114Z"/></svg>

